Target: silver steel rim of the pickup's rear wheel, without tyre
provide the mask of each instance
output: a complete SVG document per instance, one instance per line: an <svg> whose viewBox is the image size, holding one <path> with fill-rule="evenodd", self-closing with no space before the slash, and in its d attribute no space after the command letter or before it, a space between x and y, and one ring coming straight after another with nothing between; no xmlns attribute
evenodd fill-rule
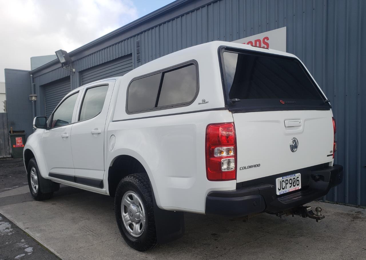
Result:
<svg viewBox="0 0 366 260"><path fill-rule="evenodd" d="M121 201L122 222L132 237L139 237L145 230L146 214L142 200L133 191L124 193Z"/></svg>

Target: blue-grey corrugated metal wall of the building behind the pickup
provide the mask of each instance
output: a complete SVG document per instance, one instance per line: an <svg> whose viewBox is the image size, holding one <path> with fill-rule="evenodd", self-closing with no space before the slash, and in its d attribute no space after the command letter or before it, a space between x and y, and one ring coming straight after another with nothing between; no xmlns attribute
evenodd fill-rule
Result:
<svg viewBox="0 0 366 260"><path fill-rule="evenodd" d="M198 0L196 3L202 6L123 41L116 40L116 44L75 61L73 66L81 71L132 53L137 67L189 46L214 40L234 41L286 26L287 51L306 64L335 108L339 145L335 160L344 165L346 176L343 184L326 199L366 205L366 137L362 135L366 129L366 105L362 102L366 98L362 89L366 54L361 48L366 39L366 1ZM141 61L136 60L134 53L136 41L140 44ZM53 73L60 78L60 74L67 72ZM36 78L37 86L39 81L55 80L51 74L41 77ZM73 82L78 83L77 73L71 76L71 83L76 84Z"/></svg>

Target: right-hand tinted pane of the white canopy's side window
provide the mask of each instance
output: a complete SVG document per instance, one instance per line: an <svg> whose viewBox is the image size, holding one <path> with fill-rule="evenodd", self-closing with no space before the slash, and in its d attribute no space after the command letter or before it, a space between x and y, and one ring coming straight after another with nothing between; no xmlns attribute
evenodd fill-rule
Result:
<svg viewBox="0 0 366 260"><path fill-rule="evenodd" d="M196 66L189 65L165 72L158 106L168 106L192 101L197 90Z"/></svg>

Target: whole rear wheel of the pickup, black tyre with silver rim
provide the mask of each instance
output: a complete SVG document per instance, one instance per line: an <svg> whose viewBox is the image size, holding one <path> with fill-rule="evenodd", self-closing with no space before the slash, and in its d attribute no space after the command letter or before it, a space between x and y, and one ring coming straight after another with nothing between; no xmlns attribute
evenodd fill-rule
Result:
<svg viewBox="0 0 366 260"><path fill-rule="evenodd" d="M158 245L153 193L146 174L131 174L119 182L115 214L121 235L129 246L146 251Z"/></svg>

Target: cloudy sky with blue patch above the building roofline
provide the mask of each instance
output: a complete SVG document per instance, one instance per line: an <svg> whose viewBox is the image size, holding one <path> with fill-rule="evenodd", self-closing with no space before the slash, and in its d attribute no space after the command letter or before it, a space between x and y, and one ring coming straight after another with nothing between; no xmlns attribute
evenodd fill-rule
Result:
<svg viewBox="0 0 366 260"><path fill-rule="evenodd" d="M67 52L173 0L0 0L0 82L4 68L30 70L30 57Z"/></svg>

